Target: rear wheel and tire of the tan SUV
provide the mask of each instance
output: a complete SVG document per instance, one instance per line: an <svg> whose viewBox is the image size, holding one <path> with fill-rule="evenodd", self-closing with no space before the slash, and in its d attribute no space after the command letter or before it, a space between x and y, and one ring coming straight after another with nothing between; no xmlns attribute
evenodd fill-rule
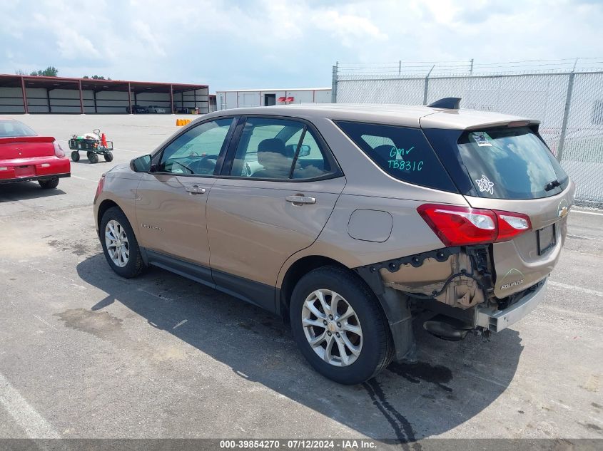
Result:
<svg viewBox="0 0 603 451"><path fill-rule="evenodd" d="M327 302L328 292L334 292L342 298L338 298L338 306L332 312L333 321L328 314L325 315L325 309L321 308L320 300L315 296L319 290L323 292ZM333 297L331 296L330 299L332 300ZM307 300L315 307L318 305L318 313L322 316L319 317L308 309ZM353 316L338 322L338 316L343 316L343 313L348 311L346 304L353 309ZM309 316L308 312L310 312ZM310 365L326 378L346 385L363 383L377 375L392 361L395 349L385 313L373 291L358 276L346 269L323 266L303 276L293 289L289 314L293 338L301 353ZM303 318L313 321L315 325L304 326ZM327 326L324 325L324 321L328 321ZM320 322L323 322L323 325L319 326ZM352 328L360 326L360 335L344 330L349 329L350 326ZM333 328L333 331L330 328ZM325 336L330 332L330 336ZM340 335L335 341L337 333ZM343 338L344 334L347 342L354 346L357 355L351 348L344 347L346 357L341 358L338 343L346 341ZM322 336L325 336L323 338L325 341L317 341L318 346L310 346L310 339ZM328 346L327 340L330 339L333 339L333 352L329 353L325 360L325 348ZM323 356L319 356L319 353ZM345 360L348 362L346 363Z"/></svg>

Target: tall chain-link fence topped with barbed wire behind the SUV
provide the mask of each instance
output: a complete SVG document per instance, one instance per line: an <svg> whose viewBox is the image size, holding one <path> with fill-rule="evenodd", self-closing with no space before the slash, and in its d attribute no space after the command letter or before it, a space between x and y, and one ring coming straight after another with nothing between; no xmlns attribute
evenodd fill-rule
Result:
<svg viewBox="0 0 603 451"><path fill-rule="evenodd" d="M540 133L576 182L577 204L603 208L603 58L474 64L333 66L333 101L461 108L541 121Z"/></svg>

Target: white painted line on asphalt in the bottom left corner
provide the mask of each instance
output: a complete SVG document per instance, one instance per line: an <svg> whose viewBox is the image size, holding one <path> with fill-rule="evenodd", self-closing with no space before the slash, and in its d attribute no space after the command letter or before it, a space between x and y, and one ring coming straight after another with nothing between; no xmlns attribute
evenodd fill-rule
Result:
<svg viewBox="0 0 603 451"><path fill-rule="evenodd" d="M30 438L60 438L42 415L31 407L19 391L0 373L0 405Z"/></svg>

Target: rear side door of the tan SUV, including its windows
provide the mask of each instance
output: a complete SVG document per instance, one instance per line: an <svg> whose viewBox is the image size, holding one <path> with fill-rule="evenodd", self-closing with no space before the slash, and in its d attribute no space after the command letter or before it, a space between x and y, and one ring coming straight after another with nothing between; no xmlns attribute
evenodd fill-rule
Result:
<svg viewBox="0 0 603 451"><path fill-rule="evenodd" d="M208 198L216 284L273 310L278 271L325 226L345 178L313 127L247 118Z"/></svg>

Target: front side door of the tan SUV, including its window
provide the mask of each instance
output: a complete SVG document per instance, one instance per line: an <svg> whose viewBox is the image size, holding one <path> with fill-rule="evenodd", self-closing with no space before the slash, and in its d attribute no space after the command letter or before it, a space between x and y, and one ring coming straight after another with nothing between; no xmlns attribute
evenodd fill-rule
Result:
<svg viewBox="0 0 603 451"><path fill-rule="evenodd" d="M201 123L153 156L155 170L143 175L136 199L138 241L151 254L208 268L206 202L232 124L233 118Z"/></svg>

